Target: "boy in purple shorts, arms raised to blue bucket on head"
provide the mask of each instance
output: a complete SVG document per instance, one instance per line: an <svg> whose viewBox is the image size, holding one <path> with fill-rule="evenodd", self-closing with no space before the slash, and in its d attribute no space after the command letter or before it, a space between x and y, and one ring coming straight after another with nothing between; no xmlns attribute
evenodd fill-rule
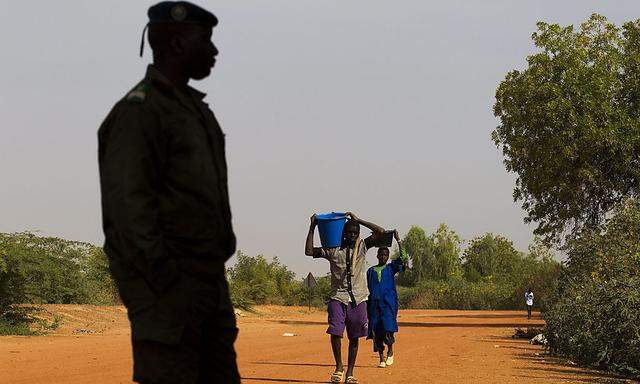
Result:
<svg viewBox="0 0 640 384"><path fill-rule="evenodd" d="M316 215L311 216L311 225L307 234L305 254L313 258L329 261L331 270L331 300L327 306L331 349L336 369L331 374L332 383L341 383L345 377L342 365L342 335L347 330L349 338L349 357L345 383L357 384L353 376L356 364L358 344L361 337L367 336L367 249L376 246L384 229L376 224L360 220L355 214L347 212L349 218L344 225L340 246L318 248L313 246L313 235L317 225ZM373 233L364 240L360 239L360 225Z"/></svg>

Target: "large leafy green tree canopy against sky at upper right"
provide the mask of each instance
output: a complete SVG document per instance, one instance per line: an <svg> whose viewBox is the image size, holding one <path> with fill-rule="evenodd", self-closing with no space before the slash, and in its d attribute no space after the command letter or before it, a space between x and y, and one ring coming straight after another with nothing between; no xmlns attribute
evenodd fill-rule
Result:
<svg viewBox="0 0 640 384"><path fill-rule="evenodd" d="M538 23L540 49L496 92L492 134L514 200L535 233L558 240L603 221L640 182L640 20L600 15L576 30Z"/></svg>

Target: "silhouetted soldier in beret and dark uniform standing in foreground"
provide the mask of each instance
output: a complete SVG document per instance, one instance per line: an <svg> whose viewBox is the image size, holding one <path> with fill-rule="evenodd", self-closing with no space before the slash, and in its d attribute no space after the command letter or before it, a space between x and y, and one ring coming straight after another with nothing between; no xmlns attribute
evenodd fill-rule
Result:
<svg viewBox="0 0 640 384"><path fill-rule="evenodd" d="M188 85L215 64L218 20L183 1L148 15L153 65L98 131L105 251L131 321L133 379L239 383L224 134Z"/></svg>

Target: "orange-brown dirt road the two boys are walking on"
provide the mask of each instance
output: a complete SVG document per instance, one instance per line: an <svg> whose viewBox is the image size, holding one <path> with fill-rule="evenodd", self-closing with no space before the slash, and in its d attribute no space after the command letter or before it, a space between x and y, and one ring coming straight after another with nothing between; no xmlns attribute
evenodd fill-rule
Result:
<svg viewBox="0 0 640 384"><path fill-rule="evenodd" d="M0 337L0 383L131 383L131 352L122 307L51 305L63 318L53 334ZM326 315L306 308L259 307L239 317L243 383L325 383L332 371ZM621 383L544 355L511 339L514 327L542 324L510 311L401 311L396 364L376 368L361 342L361 383ZM293 333L295 336L283 336ZM346 356L346 345L343 346Z"/></svg>

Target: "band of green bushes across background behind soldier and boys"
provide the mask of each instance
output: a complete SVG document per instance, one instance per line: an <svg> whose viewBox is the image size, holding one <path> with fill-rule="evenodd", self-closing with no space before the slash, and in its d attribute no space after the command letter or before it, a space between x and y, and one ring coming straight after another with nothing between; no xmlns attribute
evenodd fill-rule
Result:
<svg viewBox="0 0 640 384"><path fill-rule="evenodd" d="M404 308L522 309L527 287L544 306L560 270L538 241L525 254L506 238L485 234L462 252L462 240L444 224L428 236L412 227L403 242L412 265L398 278ZM328 274L316 276L309 289L277 257L241 251L227 278L234 305L244 309L264 304L323 307L331 295ZM0 334L55 326L39 320L38 304L119 303L100 247L30 232L0 234Z"/></svg>

